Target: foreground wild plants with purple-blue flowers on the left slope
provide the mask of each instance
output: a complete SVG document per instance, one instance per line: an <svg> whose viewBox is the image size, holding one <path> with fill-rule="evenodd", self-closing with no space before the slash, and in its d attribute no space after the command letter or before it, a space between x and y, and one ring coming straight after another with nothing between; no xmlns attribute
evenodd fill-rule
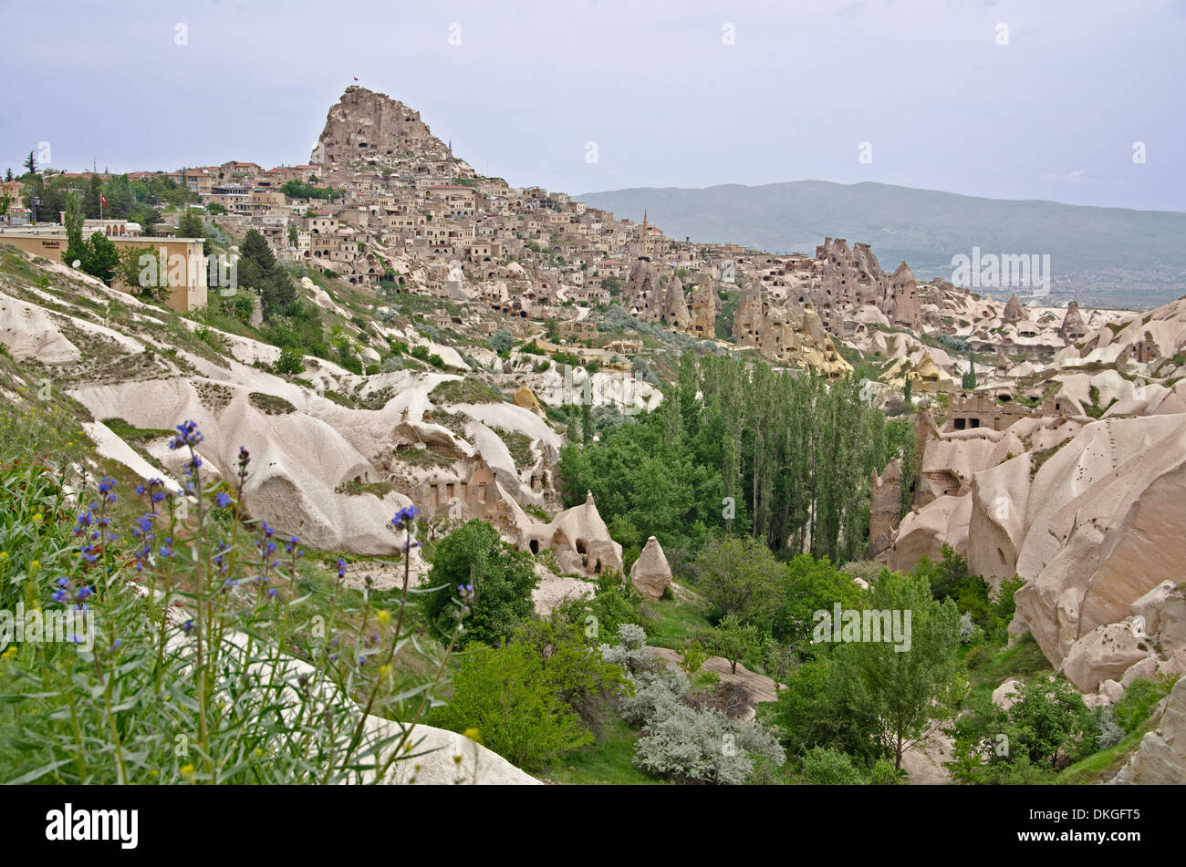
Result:
<svg viewBox="0 0 1186 867"><path fill-rule="evenodd" d="M432 680L409 692L393 668L416 653L407 573L395 610L358 605L339 560L325 606L307 604L300 541L241 520L249 455L211 486L192 423L171 443L184 493L79 471L60 404L7 409L0 431L0 603L58 624L0 659L0 778L363 782L406 757L409 728L366 719L416 721L432 700Z"/></svg>

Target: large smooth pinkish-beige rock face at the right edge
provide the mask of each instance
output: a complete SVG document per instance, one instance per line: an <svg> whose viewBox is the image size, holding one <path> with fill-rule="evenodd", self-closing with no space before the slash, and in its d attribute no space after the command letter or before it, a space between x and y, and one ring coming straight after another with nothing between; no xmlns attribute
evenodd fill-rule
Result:
<svg viewBox="0 0 1186 867"><path fill-rule="evenodd" d="M1014 597L1016 618L1080 689L1120 680L1147 657L1159 670L1186 670L1186 636L1166 616L1174 595L1142 623L1133 609L1186 574L1181 422L1104 419L1040 468L1027 452L975 476L969 565L994 583L1014 572L1028 582Z"/></svg>

